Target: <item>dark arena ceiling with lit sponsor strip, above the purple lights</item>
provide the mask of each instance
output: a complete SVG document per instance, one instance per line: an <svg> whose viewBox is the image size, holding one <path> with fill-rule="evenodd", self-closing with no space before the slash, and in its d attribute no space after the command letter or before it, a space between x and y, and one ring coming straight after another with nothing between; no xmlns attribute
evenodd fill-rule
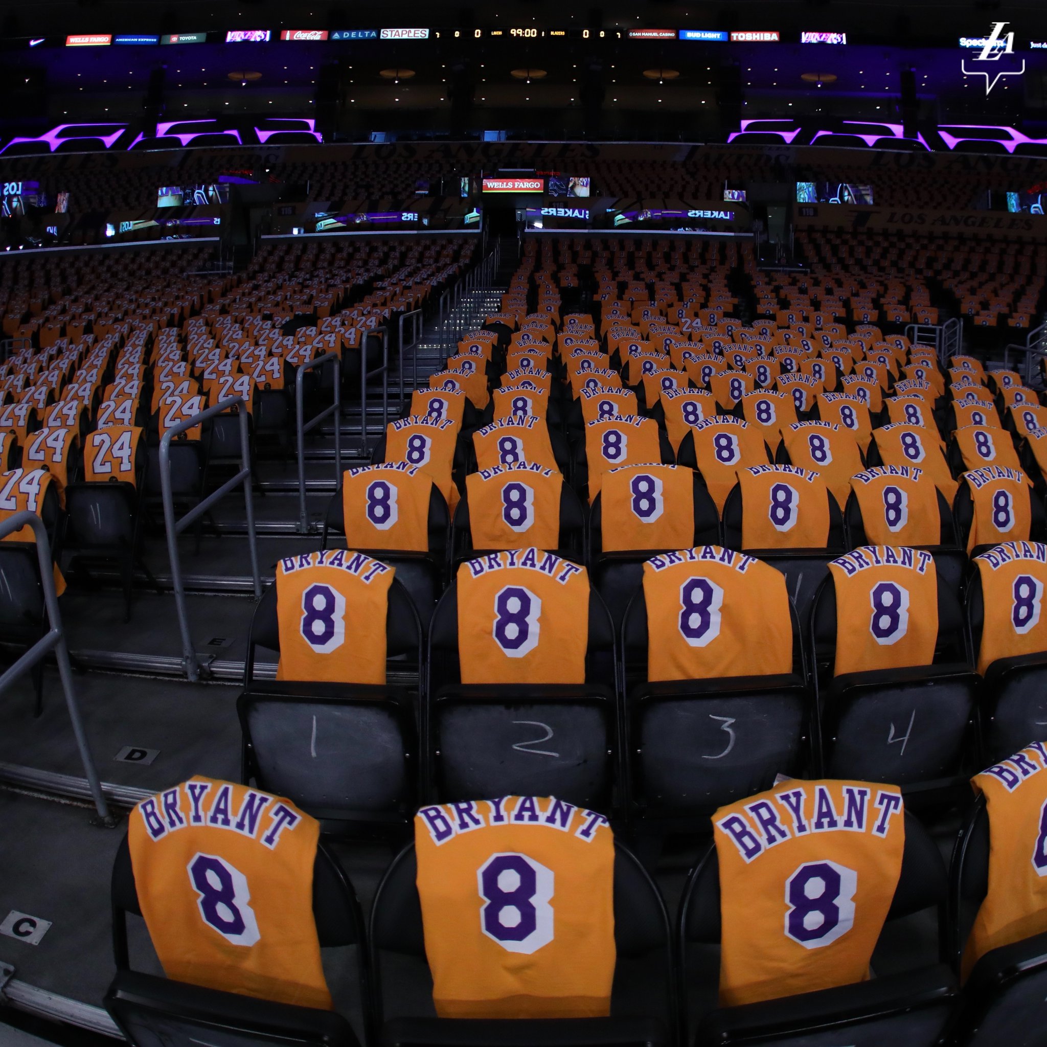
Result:
<svg viewBox="0 0 1047 1047"><path fill-rule="evenodd" d="M0 138L65 121L266 116L318 117L326 140L487 128L722 140L742 119L767 117L1047 135L1047 3L1032 0L42 0L0 12ZM1013 44L982 64L1005 73L986 93L980 51L961 38L1003 22ZM244 30L247 40L226 42ZM801 42L808 34L846 44Z"/></svg>

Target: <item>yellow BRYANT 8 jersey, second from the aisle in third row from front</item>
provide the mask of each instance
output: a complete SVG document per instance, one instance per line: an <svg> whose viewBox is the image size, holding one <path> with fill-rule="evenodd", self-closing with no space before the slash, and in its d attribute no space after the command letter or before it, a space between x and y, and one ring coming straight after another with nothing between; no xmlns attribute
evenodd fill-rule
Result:
<svg viewBox="0 0 1047 1047"><path fill-rule="evenodd" d="M473 549L508 549L521 541L537 549L560 543L563 476L531 462L481 469L465 478Z"/></svg>

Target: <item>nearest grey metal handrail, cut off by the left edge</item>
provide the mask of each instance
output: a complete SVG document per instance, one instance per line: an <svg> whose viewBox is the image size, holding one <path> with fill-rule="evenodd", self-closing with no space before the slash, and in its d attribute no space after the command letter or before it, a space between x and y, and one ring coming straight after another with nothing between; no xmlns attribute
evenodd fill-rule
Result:
<svg viewBox="0 0 1047 1047"><path fill-rule="evenodd" d="M65 641L65 630L62 628L62 616L59 614L59 598L54 592L54 567L51 563L51 544L47 540L47 529L44 527L44 521L36 513L23 510L0 524L0 541L7 535L21 531L23 527L32 529L37 543L37 559L40 561L40 586L44 592L44 606L47 609L47 621L50 628L3 675L0 675L0 694L24 672L31 669L38 662L42 662L49 651L54 651L54 661L59 666L59 676L62 680L66 708L69 710L69 719L72 721L72 733L76 738L76 749L80 750L81 763L84 764L84 775L91 789L94 807L103 823L112 827L116 823L109 814L109 804L106 803L102 783L98 781L98 773L91 757L91 747L88 744L84 723L80 718L76 692L72 686L72 666L69 664L69 648Z"/></svg>

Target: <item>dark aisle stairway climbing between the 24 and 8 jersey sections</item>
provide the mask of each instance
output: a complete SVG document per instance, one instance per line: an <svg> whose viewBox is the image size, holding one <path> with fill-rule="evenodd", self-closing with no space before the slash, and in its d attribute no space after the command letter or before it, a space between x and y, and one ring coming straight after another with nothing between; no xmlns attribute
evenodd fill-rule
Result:
<svg viewBox="0 0 1047 1047"><path fill-rule="evenodd" d="M442 318L436 310L425 317L418 344L404 354L405 400L416 367L419 384L426 384L428 375L443 366L448 350L453 351L456 332L481 326L497 311L505 286L497 280L508 282L516 266L515 247L511 241L494 287L463 291ZM401 414L401 376L396 359L391 365L388 417L394 419ZM369 384L366 422L373 446L382 433L379 379ZM342 405L338 425L342 468L365 464L358 404ZM280 557L320 547L319 529L335 490L334 420L308 438L308 533L298 530L293 454L264 458L257 472L259 562L263 584L268 585ZM38 944L0 933L0 1005L6 1001L20 1010L108 1037L119 1035L99 1005L113 974L109 875L127 811L138 800L194 774L231 780L241 776L236 700L255 606L243 492L233 491L215 508L199 549L191 533L179 538L202 667L197 684L185 678L160 522L154 520L144 544L144 560L160 592L139 572L130 622L124 620L115 572L92 572L91 585L73 575L61 601L87 737L107 799L118 815L116 827L96 824L55 671L45 671L39 719L32 716L27 677L4 695L5 729L0 732L0 921L17 912L47 925ZM271 678L275 668L275 663L265 663L257 673ZM391 853L385 845L354 845L352 850L340 849L339 856L357 890L367 896ZM142 928L135 930L134 943L151 952ZM152 957L136 966L151 970L150 960L155 967ZM0 1018L0 1041L4 1028Z"/></svg>

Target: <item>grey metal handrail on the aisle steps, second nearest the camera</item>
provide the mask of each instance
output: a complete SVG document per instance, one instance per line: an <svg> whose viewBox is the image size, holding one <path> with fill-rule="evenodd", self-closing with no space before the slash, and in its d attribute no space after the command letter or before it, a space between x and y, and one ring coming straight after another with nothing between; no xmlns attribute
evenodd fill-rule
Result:
<svg viewBox="0 0 1047 1047"><path fill-rule="evenodd" d="M207 497L198 502L181 519L175 519L175 500L171 493L171 441L186 429L237 408L240 416L240 472L227 480ZM185 585L182 582L182 567L178 556L178 535L205 513L216 502L229 493L237 485L244 485L244 505L247 511L247 542L251 551L251 574L254 578L254 598L262 597L262 576L259 574L258 537L254 533L254 506L251 502L251 447L247 431L247 401L242 396L229 397L207 407L184 422L173 425L160 440L160 491L163 495L163 524L168 532L168 554L171 557L171 578L175 587L175 605L178 609L178 628L182 634L182 665L185 675L196 683L200 678L200 664L193 647L190 631L188 611L185 608Z"/></svg>

